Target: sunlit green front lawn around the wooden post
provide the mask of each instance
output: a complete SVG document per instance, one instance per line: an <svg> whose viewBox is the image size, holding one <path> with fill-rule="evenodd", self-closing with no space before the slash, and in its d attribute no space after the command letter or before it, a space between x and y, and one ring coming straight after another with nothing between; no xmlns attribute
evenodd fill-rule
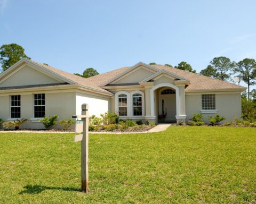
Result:
<svg viewBox="0 0 256 204"><path fill-rule="evenodd" d="M0 203L255 203L256 129L91 134L90 192L73 133L0 133Z"/></svg>

